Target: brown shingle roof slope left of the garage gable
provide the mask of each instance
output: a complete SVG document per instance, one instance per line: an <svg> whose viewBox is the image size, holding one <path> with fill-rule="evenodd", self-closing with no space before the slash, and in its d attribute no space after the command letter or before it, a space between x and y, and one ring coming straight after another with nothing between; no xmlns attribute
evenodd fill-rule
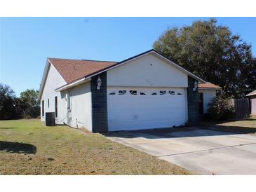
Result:
<svg viewBox="0 0 256 192"><path fill-rule="evenodd" d="M90 76L108 67L112 67L117 62L92 61L92 60L67 60L48 58L51 64L57 69L67 83Z"/></svg>

